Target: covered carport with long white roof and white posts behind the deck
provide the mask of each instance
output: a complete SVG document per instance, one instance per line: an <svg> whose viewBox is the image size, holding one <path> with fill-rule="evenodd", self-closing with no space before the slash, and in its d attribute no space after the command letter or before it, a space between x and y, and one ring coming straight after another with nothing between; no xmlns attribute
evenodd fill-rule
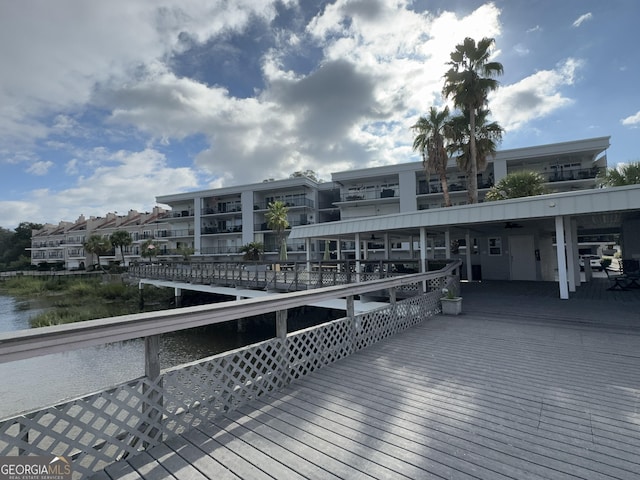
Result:
<svg viewBox="0 0 640 480"><path fill-rule="evenodd" d="M338 249L341 241L353 241L356 268L367 259L371 239L381 243L384 258L390 260L399 254L391 245L406 242L410 256L419 254L424 271L430 238L443 236L445 258L450 258L451 238L463 236L467 278L473 274L472 256L479 255L496 268L494 274L505 277L501 279L548 280L557 275L560 298L568 299L580 284L578 234L623 232L627 225L623 252L640 256L639 237L633 234L640 233L639 218L640 185L632 185L306 225L293 228L290 238L305 239L307 247L312 239L335 240Z"/></svg>

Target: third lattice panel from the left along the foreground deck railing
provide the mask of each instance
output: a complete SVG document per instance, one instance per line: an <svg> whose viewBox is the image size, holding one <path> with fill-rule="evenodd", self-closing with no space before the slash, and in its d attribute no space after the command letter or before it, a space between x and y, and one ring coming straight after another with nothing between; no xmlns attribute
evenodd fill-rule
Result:
<svg viewBox="0 0 640 480"><path fill-rule="evenodd" d="M355 330L351 320L341 318L287 336L289 367L300 378L353 353Z"/></svg>

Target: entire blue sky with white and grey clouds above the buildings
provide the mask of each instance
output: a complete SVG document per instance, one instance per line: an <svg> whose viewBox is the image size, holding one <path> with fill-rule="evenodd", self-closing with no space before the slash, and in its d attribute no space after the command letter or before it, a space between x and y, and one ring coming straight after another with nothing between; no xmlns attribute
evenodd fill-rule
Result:
<svg viewBox="0 0 640 480"><path fill-rule="evenodd" d="M0 226L312 169L417 161L464 37L496 40L502 149L640 160L637 0L0 0Z"/></svg>

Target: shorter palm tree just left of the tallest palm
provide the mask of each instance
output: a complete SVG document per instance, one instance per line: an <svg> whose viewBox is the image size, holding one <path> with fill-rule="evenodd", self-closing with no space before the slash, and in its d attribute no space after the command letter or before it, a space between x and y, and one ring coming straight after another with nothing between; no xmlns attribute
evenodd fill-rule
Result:
<svg viewBox="0 0 640 480"><path fill-rule="evenodd" d="M429 115L420 117L416 124L411 127L416 132L416 136L413 139L413 150L417 150L422 154L422 165L427 178L431 173L436 173L440 177L445 207L451 206L449 184L447 183L449 156L445 149L445 139L450 128L448 120L449 107L444 107L442 111L438 111L436 107L431 107Z"/></svg>

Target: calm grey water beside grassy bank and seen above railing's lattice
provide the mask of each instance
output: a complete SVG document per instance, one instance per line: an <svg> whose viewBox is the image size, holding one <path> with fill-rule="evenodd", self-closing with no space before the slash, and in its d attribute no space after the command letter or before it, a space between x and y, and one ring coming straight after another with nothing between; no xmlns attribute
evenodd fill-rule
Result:
<svg viewBox="0 0 640 480"><path fill-rule="evenodd" d="M0 295L0 332L28 329L36 313L29 302ZM235 325L163 336L161 366L167 368L265 338ZM103 390L144 373L144 342L128 340L0 364L0 419Z"/></svg>

